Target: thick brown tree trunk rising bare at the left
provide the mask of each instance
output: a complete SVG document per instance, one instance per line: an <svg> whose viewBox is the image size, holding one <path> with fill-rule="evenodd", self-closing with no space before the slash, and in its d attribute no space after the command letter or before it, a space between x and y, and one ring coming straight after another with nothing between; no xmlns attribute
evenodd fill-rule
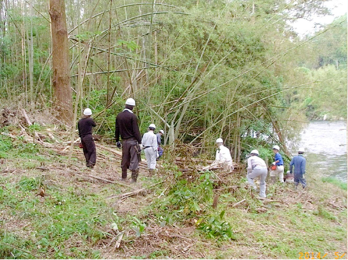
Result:
<svg viewBox="0 0 348 260"><path fill-rule="evenodd" d="M64 0L49 0L52 33L52 67L54 106L58 117L72 125L72 90L70 88L70 65L68 31Z"/></svg>

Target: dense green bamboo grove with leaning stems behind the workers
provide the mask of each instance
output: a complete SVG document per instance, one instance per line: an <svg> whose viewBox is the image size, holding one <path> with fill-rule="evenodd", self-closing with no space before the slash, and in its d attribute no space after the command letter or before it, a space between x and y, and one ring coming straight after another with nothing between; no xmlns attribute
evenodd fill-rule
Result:
<svg viewBox="0 0 348 260"><path fill-rule="evenodd" d="M6 106L54 115L48 2L0 1L0 97ZM324 3L65 1L75 120L89 106L97 133L113 136L116 113L134 97L141 129L154 122L167 144L209 150L223 137L235 160L261 143L285 148L314 102L308 90L344 79L345 54L326 49L325 56L317 42L337 28L341 37L345 19L303 39L291 26L328 13ZM306 71L319 67L333 72L318 80Z"/></svg>

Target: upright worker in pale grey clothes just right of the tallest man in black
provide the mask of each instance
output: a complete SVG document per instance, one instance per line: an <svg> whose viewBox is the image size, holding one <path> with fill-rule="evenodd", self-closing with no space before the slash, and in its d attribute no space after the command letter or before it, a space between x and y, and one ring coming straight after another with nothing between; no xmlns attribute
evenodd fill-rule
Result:
<svg viewBox="0 0 348 260"><path fill-rule="evenodd" d="M155 172L156 159L157 159L157 137L154 133L156 129L155 124L150 124L148 133L145 133L141 143L145 151L146 162L148 163L148 169L150 176Z"/></svg>

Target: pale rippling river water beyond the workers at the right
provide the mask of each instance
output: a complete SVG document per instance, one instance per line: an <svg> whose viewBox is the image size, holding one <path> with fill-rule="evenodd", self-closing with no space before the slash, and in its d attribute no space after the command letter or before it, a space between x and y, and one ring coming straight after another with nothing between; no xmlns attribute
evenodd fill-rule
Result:
<svg viewBox="0 0 348 260"><path fill-rule="evenodd" d="M299 147L323 175L347 181L347 122L312 121L301 132Z"/></svg>

